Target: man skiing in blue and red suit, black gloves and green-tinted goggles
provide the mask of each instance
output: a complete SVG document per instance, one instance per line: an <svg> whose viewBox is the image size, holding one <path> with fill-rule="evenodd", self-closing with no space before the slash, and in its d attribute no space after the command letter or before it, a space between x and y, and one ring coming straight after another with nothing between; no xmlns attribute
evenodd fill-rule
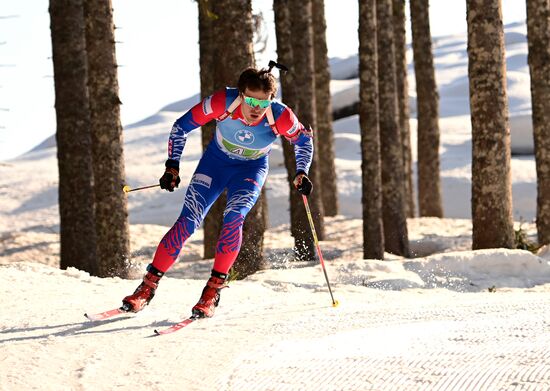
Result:
<svg viewBox="0 0 550 391"><path fill-rule="evenodd" d="M203 99L173 125L168 141L166 170L160 187L174 191L180 183L179 160L187 135L193 129L216 120L216 132L199 161L185 195L179 218L159 243L143 282L125 297L123 308L138 312L155 295L161 277L176 262L185 241L199 227L206 213L227 189L223 226L216 246L212 275L193 307L197 317L211 317L226 286L229 269L239 253L246 214L260 196L269 165L268 155L278 135L294 145L294 186L309 195L312 184L307 174L313 157L312 134L283 103L273 100L277 81L269 69L248 68L239 77L238 88L226 87Z"/></svg>

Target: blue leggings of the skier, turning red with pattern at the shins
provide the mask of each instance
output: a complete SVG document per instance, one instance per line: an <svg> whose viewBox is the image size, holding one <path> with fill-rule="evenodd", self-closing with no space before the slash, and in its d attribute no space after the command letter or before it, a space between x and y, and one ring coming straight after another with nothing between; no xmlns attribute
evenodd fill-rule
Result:
<svg viewBox="0 0 550 391"><path fill-rule="evenodd" d="M220 151L215 142L211 143L193 174L179 218L157 247L153 266L162 272L170 269L187 238L227 189L227 204L213 269L228 273L241 248L244 219L260 196L268 170L267 157L235 160Z"/></svg>

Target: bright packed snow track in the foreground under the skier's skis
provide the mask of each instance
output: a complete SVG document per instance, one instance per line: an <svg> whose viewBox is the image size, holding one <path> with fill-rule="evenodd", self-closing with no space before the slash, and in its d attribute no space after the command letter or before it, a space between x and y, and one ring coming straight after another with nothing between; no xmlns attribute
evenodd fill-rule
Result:
<svg viewBox="0 0 550 391"><path fill-rule="evenodd" d="M338 282L335 266L337 308L318 266L269 270L164 336L203 279L163 279L142 312L90 322L138 281L3 266L0 390L550 389L550 284L382 290Z"/></svg>

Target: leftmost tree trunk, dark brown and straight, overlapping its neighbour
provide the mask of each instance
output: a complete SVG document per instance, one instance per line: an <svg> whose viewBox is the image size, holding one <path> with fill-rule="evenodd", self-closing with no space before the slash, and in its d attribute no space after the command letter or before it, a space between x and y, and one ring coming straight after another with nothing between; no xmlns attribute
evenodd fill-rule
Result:
<svg viewBox="0 0 550 391"><path fill-rule="evenodd" d="M60 266L96 276L86 25L82 0L50 0L59 167Z"/></svg>

